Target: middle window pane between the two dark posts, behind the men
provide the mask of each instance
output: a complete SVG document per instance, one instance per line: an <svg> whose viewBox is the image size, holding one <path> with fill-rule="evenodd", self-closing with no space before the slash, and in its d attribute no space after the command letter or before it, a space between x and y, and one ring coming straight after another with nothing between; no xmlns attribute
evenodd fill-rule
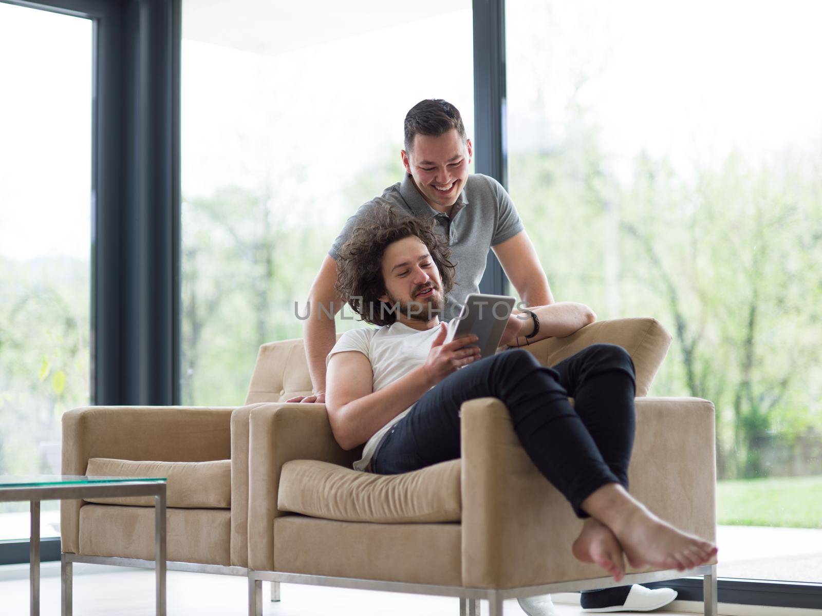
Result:
<svg viewBox="0 0 822 616"><path fill-rule="evenodd" d="M294 302L345 218L402 179L426 98L472 132L469 0L183 2L183 403L242 403L257 347L302 335Z"/></svg>

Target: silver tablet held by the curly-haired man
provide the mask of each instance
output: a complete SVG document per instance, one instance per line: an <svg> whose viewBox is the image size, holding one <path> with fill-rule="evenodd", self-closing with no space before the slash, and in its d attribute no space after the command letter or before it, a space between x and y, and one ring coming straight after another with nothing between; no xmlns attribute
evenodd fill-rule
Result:
<svg viewBox="0 0 822 616"><path fill-rule="evenodd" d="M482 356L492 356L506 329L514 302L513 297L505 295L471 293L465 298L462 312L448 324L446 342L473 333L479 338L476 346Z"/></svg>

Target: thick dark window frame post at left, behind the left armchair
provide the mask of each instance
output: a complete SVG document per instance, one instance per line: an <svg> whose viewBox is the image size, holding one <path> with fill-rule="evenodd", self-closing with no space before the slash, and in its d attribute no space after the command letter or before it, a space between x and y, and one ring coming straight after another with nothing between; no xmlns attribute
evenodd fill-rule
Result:
<svg viewBox="0 0 822 616"><path fill-rule="evenodd" d="M181 1L0 0L92 21L92 404L179 403Z"/></svg>

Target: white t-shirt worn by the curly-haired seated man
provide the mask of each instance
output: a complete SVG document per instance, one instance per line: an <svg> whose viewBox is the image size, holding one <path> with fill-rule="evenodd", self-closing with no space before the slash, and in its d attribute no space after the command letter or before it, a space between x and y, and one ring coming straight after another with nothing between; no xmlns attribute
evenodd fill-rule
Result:
<svg viewBox="0 0 822 616"><path fill-rule="evenodd" d="M451 323L456 323L452 319ZM451 323L449 324L451 326ZM431 351L431 343L436 338L440 327L433 327L425 331L410 328L408 325L396 322L381 328L363 327L350 329L345 332L331 349L326 357L326 365L335 353L344 351L358 351L363 353L371 362L374 373L373 390L375 392L388 387L395 380L403 378L414 368L423 365ZM412 405L413 406L413 405ZM363 449L362 459L354 462L355 471L364 471L371 461L376 446L390 427L408 415L408 407L386 425L377 430Z"/></svg>

